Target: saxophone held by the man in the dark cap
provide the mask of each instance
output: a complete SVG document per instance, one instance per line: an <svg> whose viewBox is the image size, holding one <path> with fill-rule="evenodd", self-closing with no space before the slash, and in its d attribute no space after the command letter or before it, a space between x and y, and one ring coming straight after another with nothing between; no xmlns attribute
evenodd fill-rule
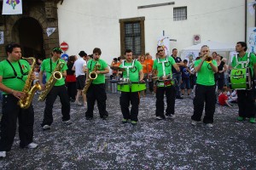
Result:
<svg viewBox="0 0 256 170"><path fill-rule="evenodd" d="M41 94L38 97L38 101L44 101L47 94L49 94L49 91L53 86L55 85L55 82L57 80L61 80L62 74L61 69L64 67L65 63L60 61L58 65L56 65L55 70L52 72L51 76L49 77L49 80L45 83L45 89L41 92Z"/></svg>

